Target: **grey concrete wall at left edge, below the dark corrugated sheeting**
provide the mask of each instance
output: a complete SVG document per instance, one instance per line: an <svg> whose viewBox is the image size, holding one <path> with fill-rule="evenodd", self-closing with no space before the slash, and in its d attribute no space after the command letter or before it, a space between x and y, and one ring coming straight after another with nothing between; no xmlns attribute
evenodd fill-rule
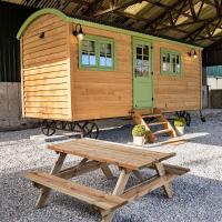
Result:
<svg viewBox="0 0 222 222"><path fill-rule="evenodd" d="M21 117L21 89L18 82L0 82L0 131L34 127Z"/></svg>

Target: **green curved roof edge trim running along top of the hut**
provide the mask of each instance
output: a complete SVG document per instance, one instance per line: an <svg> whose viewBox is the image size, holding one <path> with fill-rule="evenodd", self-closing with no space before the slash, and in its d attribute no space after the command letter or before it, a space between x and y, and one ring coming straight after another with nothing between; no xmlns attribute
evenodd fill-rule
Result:
<svg viewBox="0 0 222 222"><path fill-rule="evenodd" d="M174 43L174 44L183 44L183 46L186 46L186 47L191 47L191 48L195 48L195 49L199 49L199 50L203 50L203 47L199 47L199 46L195 46L195 44L189 44L189 43L185 43L185 42L180 42L180 41L171 40L171 39L168 39L168 38L154 37L154 36L150 36L150 34L137 32L137 31L125 30L125 29L111 27L111 26L107 26L107 24L101 24L101 23L97 23L97 22L92 22L92 21L71 18L71 17L68 17L67 14L64 14L63 12L59 11L58 9L52 9L52 8L41 9L41 10L34 12L33 14L31 14L24 21L24 23L21 26L21 28L19 29L19 31L17 33L17 39L18 40L21 39L21 37L24 33L24 31L28 29L28 27L36 19L38 19L39 17L41 17L43 14L49 14L49 13L60 17L62 20L64 20L67 22L81 23L82 26L85 26L85 27L103 29L103 30L107 30L107 31L124 33L124 34L128 34L128 36L139 37L139 38L143 38L143 39L149 39L149 40L167 41L167 42Z"/></svg>

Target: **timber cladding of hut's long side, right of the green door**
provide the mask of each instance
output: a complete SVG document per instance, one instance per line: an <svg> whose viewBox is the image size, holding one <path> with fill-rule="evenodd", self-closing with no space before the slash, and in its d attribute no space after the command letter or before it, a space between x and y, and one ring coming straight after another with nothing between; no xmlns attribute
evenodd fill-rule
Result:
<svg viewBox="0 0 222 222"><path fill-rule="evenodd" d="M161 48L181 53L181 73L179 75L161 74ZM189 47L153 42L154 102L163 111L201 109L201 56L193 59Z"/></svg>

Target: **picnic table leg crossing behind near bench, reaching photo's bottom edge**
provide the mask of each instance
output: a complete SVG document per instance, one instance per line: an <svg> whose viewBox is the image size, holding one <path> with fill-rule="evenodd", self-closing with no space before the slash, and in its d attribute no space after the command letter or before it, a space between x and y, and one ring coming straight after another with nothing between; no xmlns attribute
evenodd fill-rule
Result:
<svg viewBox="0 0 222 222"><path fill-rule="evenodd" d="M120 176L118 179L118 182L115 184L112 195L121 195L124 192L130 174L131 174L131 171L128 171L125 169L121 170ZM102 215L102 222L111 222L113 216L114 216L114 212L109 212L109 213L104 212Z"/></svg>

